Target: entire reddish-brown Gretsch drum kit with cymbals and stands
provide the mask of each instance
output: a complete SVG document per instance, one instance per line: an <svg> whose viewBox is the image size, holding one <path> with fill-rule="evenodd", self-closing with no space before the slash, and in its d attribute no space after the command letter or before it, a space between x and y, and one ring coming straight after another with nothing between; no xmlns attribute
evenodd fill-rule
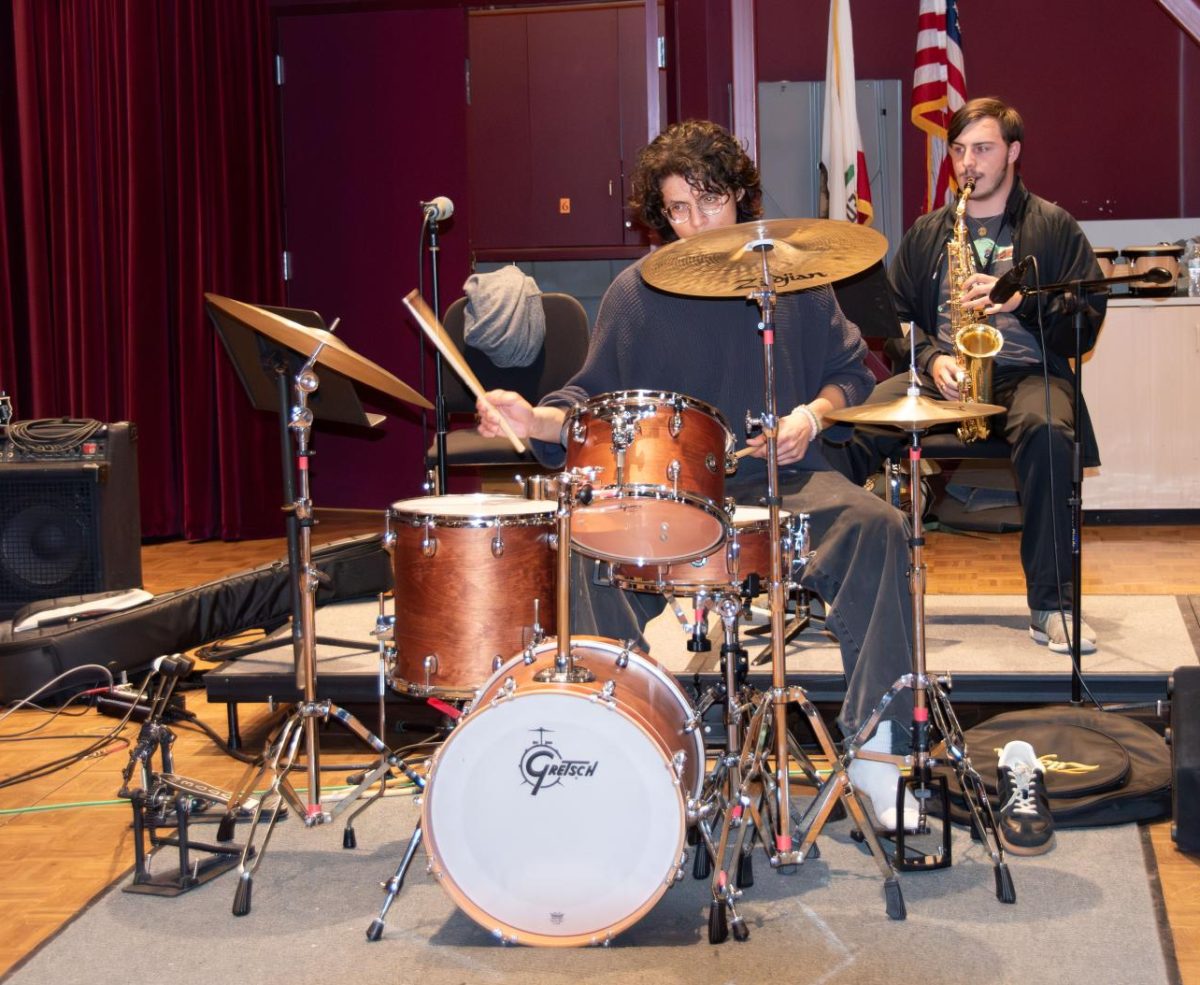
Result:
<svg viewBox="0 0 1200 985"><path fill-rule="evenodd" d="M424 770L414 768L344 709L318 699L313 648L305 642L298 659L305 699L269 740L263 765L248 771L240 787L248 795L271 774L251 821L235 914L248 912L250 884L262 858L254 857L252 841L264 804L275 805L269 809L274 812L265 848L284 801L306 824L326 823L368 787L379 783L382 792L398 771L419 788L421 812L395 873L384 883L386 895L367 930L370 941L382 937L386 914L422 843L433 877L497 939L557 947L610 943L683 879L691 846L692 875L710 879L709 941L724 941L731 931L736 939L746 939L749 929L737 901L752 884L755 845L770 867L794 871L818 855L817 837L841 809L880 870L888 917L904 919L896 870L949 864L948 834L943 849L932 854L914 855L902 830L894 835L894 851L884 851L850 782L848 765L856 756L908 768L898 786L898 804L906 791L917 795L919 830L925 833L928 809L938 792L946 800L944 779L938 787L935 767L955 769L976 834L995 864L997 896L1015 900L996 823L966 756L947 689L924 667L918 495L910 585L913 673L881 697L844 751L804 690L786 681L788 603L794 603L810 552L806 517L780 507L776 293L851 276L878 260L884 250L883 238L863 227L769 220L671 244L643 265L643 277L661 290L748 298L760 308L764 409L757 424L766 437L767 463L762 507L734 507L725 499L725 476L736 460L720 412L679 394L649 390L599 395L568 415L565 470L540 486L541 494L553 498L427 495L391 505L384 542L392 555L394 615L382 611L377 625L380 674L386 666L392 689L428 701L454 726ZM310 331L294 326L284 334L256 312L242 306L239 317L276 341L287 335L284 344L296 344L294 331ZM420 312L418 322L426 334L431 319L427 310ZM323 361L325 347L305 343L298 350L310 358L305 379L296 379L292 427L299 438L302 478L295 504L304 529L296 572L304 600L300 636L311 639L314 572L305 401L316 390L312 370ZM348 350L334 352L340 371L355 376ZM454 360L451 353L443 355ZM911 432L916 478L919 434L926 427L1000 409L977 403L964 409L911 391L895 404L830 416ZM572 549L605 563L616 588L660 593L668 601L690 597L697 626L715 612L724 631L719 683L692 699L631 642L572 636ZM451 590L469 600L466 618L450 608ZM749 684L739 641L739 621L760 590L767 595L772 656L770 686L761 691ZM863 750L888 703L905 687L912 689L917 709L913 753L883 757ZM709 763L703 721L714 705L722 705L725 734ZM793 705L815 737L820 769L787 727ZM316 785L318 720L341 722L379 753L378 765L332 810L322 805ZM944 763L932 751L935 733L944 739ZM288 781L301 735L307 739L307 804ZM808 798L803 810L792 797L797 769ZM235 798L229 815L239 806ZM481 825L481 810L497 823ZM948 830L948 810L941 818ZM481 837L481 827L497 840Z"/></svg>

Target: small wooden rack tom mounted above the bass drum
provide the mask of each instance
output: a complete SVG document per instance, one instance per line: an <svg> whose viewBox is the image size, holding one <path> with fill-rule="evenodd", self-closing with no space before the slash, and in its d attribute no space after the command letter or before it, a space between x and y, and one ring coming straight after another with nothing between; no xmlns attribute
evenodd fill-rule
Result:
<svg viewBox="0 0 1200 985"><path fill-rule="evenodd" d="M598 468L590 500L571 512L584 554L673 564L725 537L725 473L733 436L721 413L679 394L602 394L571 412L566 467Z"/></svg>

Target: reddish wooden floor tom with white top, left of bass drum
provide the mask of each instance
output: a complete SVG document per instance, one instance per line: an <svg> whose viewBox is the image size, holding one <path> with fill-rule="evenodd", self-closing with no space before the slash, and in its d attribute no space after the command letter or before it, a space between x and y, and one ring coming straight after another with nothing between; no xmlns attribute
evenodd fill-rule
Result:
<svg viewBox="0 0 1200 985"><path fill-rule="evenodd" d="M394 687L468 698L535 629L556 631L556 509L482 493L391 505Z"/></svg>

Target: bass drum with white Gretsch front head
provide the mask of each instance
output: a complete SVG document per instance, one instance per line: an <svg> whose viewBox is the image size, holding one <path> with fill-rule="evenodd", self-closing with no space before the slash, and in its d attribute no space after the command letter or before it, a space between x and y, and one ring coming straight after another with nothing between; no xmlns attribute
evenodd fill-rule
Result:
<svg viewBox="0 0 1200 985"><path fill-rule="evenodd" d="M433 757L421 827L430 871L485 930L604 944L679 875L704 745L650 657L575 637L575 666L595 679L536 680L557 653L547 639L482 686Z"/></svg>

